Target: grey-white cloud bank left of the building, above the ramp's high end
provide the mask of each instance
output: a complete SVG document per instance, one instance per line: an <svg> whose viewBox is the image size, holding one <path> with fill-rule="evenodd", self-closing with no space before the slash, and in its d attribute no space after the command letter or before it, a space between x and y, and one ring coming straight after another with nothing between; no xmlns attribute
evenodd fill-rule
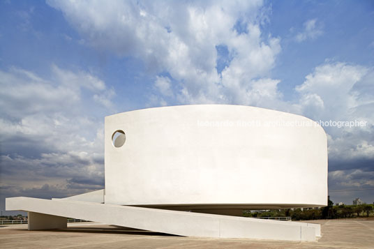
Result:
<svg viewBox="0 0 374 249"><path fill-rule="evenodd" d="M51 73L46 79L20 68L0 70L2 197L62 197L103 188L100 110L110 111L112 90L84 71L52 65Z"/></svg>

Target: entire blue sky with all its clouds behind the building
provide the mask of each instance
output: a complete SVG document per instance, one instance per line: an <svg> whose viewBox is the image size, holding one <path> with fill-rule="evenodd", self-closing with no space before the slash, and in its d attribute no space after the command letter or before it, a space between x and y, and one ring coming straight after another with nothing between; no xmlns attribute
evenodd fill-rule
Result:
<svg viewBox="0 0 374 249"><path fill-rule="evenodd" d="M329 194L374 201L373 1L0 1L0 21L1 210L103 188L104 116L204 103L366 121L325 128Z"/></svg>

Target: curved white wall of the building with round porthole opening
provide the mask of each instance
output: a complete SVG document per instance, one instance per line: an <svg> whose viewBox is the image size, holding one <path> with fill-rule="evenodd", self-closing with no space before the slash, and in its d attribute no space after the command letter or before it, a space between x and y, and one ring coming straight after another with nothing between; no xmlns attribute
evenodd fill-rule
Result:
<svg viewBox="0 0 374 249"><path fill-rule="evenodd" d="M116 130L126 135L123 146L112 142ZM304 116L239 105L107 116L105 203L324 206L327 137Z"/></svg>

